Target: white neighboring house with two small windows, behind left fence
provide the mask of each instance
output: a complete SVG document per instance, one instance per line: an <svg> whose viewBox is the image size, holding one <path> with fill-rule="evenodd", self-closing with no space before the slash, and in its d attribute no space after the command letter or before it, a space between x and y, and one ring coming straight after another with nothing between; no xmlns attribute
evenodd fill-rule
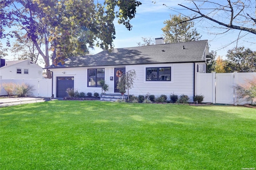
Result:
<svg viewBox="0 0 256 170"><path fill-rule="evenodd" d="M42 79L43 68L26 60L5 61L1 59L0 79Z"/></svg>

